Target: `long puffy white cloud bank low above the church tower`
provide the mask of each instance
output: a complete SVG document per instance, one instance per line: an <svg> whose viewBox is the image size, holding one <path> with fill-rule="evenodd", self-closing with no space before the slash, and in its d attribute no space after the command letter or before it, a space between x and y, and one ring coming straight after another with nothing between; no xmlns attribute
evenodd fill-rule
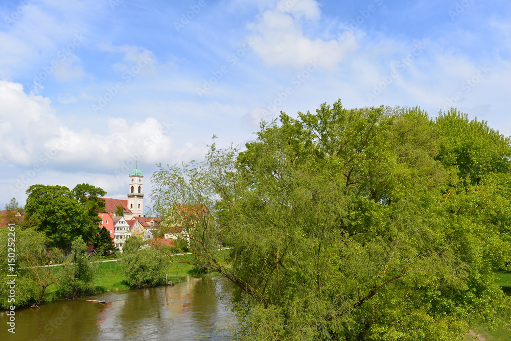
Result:
<svg viewBox="0 0 511 341"><path fill-rule="evenodd" d="M74 97L65 95L64 101ZM148 117L128 123L119 117L98 117L92 127L80 131L66 127L55 116L51 101L27 95L21 84L0 81L0 160L20 166L44 165L68 172L110 171L131 159L156 163L183 160L202 154L202 143L176 145L172 124ZM97 131L105 131L97 133ZM51 162L50 162L51 161Z"/></svg>

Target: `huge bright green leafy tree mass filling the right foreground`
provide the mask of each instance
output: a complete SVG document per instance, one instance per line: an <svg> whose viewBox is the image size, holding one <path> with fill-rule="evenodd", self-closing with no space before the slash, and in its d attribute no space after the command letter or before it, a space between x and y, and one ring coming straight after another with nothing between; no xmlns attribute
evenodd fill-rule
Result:
<svg viewBox="0 0 511 341"><path fill-rule="evenodd" d="M499 167L467 184L444 116L460 124L456 113L340 101L282 113L242 152L213 144L203 162L160 165L155 209L205 205L215 217L181 238L196 264L236 284L240 339L461 339L509 303L493 271L511 259L500 187L511 149L481 123Z"/></svg>

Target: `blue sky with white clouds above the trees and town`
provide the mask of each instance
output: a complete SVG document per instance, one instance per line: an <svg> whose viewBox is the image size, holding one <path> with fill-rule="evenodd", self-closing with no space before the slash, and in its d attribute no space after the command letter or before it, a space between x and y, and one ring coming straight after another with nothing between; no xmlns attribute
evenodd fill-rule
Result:
<svg viewBox="0 0 511 341"><path fill-rule="evenodd" d="M4 0L0 206L33 184L126 199L128 174L243 148L261 120L451 106L511 134L500 0Z"/></svg>

